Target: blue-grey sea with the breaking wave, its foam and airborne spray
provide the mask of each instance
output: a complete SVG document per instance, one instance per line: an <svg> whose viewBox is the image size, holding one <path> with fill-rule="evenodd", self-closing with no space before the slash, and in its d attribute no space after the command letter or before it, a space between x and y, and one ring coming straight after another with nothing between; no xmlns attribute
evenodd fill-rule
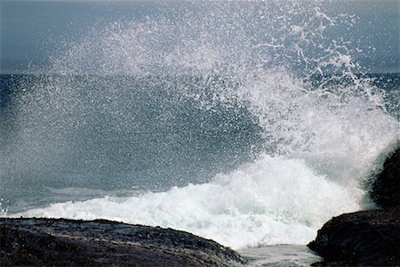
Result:
<svg viewBox="0 0 400 267"><path fill-rule="evenodd" d="M1 75L3 216L248 248L307 244L333 215L373 206L365 182L399 142L400 75L354 59L352 14L320 1L164 8Z"/></svg>

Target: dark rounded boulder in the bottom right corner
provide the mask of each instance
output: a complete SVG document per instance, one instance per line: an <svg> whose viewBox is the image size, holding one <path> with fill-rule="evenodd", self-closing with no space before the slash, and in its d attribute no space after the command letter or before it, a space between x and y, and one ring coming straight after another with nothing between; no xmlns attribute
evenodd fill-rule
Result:
<svg viewBox="0 0 400 267"><path fill-rule="evenodd" d="M400 265L400 207L334 217L308 247L324 257L314 266Z"/></svg>

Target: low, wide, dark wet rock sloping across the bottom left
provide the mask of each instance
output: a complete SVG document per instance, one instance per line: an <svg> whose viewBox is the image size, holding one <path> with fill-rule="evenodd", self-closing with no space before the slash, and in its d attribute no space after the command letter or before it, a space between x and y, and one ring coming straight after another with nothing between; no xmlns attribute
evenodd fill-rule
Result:
<svg viewBox="0 0 400 267"><path fill-rule="evenodd" d="M184 231L105 220L0 218L0 265L235 266L228 247Z"/></svg>

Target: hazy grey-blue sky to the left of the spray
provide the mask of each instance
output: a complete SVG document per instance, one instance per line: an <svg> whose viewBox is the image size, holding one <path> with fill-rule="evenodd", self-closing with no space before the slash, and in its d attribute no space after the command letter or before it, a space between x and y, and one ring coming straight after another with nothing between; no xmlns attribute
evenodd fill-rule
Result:
<svg viewBox="0 0 400 267"><path fill-rule="evenodd" d="M26 71L29 63L46 64L63 41L121 16L139 18L151 12L153 5L140 1L2 1L0 8L0 72L7 73Z"/></svg>

